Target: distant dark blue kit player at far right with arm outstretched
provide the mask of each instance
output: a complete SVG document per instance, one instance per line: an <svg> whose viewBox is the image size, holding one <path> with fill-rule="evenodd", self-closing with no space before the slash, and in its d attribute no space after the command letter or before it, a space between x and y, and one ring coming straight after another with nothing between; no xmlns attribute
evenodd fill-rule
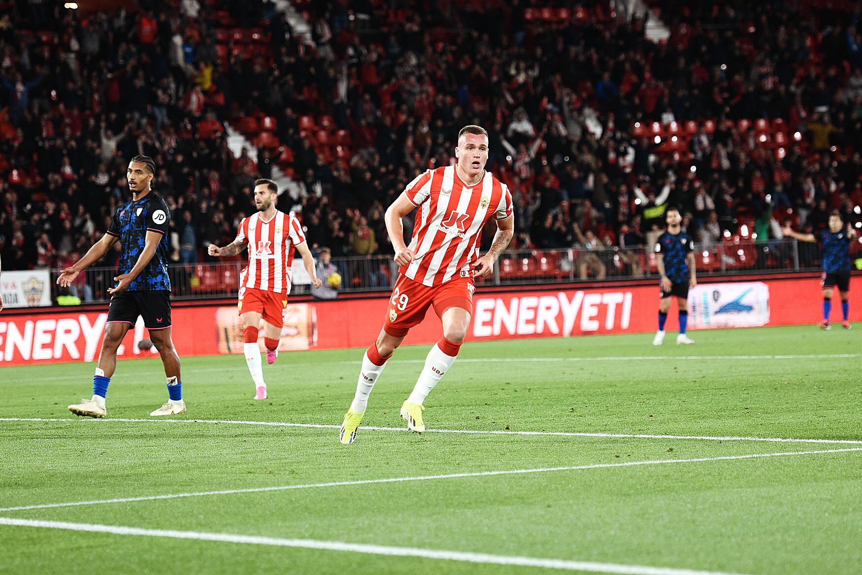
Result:
<svg viewBox="0 0 862 575"><path fill-rule="evenodd" d="M782 230L784 235L798 241L815 242L815 234L800 234L790 227ZM823 253L823 322L821 329L829 329L829 312L832 311L832 291L838 288L841 296L841 325L850 329L850 242L856 238L856 231L847 224L840 212L829 214L829 229L821 232L821 251Z"/></svg>

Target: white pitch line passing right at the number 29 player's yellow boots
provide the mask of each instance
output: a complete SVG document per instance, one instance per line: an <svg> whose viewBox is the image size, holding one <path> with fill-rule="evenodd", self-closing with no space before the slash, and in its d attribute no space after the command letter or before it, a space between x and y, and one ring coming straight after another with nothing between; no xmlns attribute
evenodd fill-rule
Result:
<svg viewBox="0 0 862 575"><path fill-rule="evenodd" d="M50 417L0 417L0 422L61 422L77 423L78 425L103 425L109 422L119 423L213 423L225 425L262 425L274 428L310 428L310 429L340 429L339 425L330 423L290 423L290 422L254 422L235 419L99 419L89 423L86 419L50 418ZM368 431L408 431L407 428L386 428L377 426L362 426ZM804 439L796 437L736 437L732 435L660 435L660 434L605 434L582 431L515 431L503 429L426 429L427 434L468 434L468 435L548 435L551 437L600 437L611 439L653 439L653 440L700 440L700 441L765 441L768 443L834 443L839 445L862 445L862 440L825 440Z"/></svg>

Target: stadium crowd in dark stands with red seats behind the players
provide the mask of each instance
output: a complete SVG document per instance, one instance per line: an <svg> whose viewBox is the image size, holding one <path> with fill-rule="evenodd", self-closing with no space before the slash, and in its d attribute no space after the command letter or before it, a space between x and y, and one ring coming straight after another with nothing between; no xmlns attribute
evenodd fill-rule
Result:
<svg viewBox="0 0 862 575"><path fill-rule="evenodd" d="M669 205L707 248L740 222L767 241L832 209L859 221L852 12L656 1L671 29L656 43L602 1L294 3L313 45L271 2L108 15L0 0L4 267L77 259L128 197L137 153L156 159L176 261L231 241L276 166L294 180L279 208L312 247L387 253L385 207L453 162L467 123L489 130L488 169L513 193L510 249L646 245ZM250 134L256 157L234 157L226 126L249 117L274 144Z"/></svg>

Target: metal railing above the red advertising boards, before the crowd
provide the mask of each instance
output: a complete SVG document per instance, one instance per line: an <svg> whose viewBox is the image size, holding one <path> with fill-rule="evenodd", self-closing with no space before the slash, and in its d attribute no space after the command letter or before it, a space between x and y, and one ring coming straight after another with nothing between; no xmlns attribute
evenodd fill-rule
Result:
<svg viewBox="0 0 862 575"><path fill-rule="evenodd" d="M862 244L854 242L855 257L862 257ZM816 244L795 240L723 241L713 247L697 247L697 275L711 277L757 272L804 272L820 269L821 254ZM333 258L342 278L340 292L390 291L398 275L391 256ZM235 297L245 261L213 261L171 264L172 298L208 299ZM55 280L59 270L52 271ZM53 284L53 299L72 294L84 303L109 299L106 290L114 285L116 270L108 267L86 270L71 290ZM295 272L292 294L309 293ZM656 254L647 247L570 247L550 250L518 250L503 253L492 278L482 285L561 284L658 277Z"/></svg>

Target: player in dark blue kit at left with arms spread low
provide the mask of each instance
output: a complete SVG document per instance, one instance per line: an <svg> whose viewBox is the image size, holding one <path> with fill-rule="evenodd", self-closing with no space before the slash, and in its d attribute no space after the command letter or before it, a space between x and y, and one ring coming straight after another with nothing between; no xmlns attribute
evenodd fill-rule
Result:
<svg viewBox="0 0 862 575"><path fill-rule="evenodd" d="M130 202L116 209L108 232L71 267L60 273L57 283L72 284L78 273L96 263L120 242L117 284L111 295L102 353L93 376L93 397L69 406L76 416L104 417L105 395L116 368L116 350L138 316L150 340L159 350L167 376L168 402L151 416L172 416L185 412L183 382L179 377L179 357L171 341L171 280L167 275L167 230L171 212L162 197L151 188L156 166L147 156L135 156L128 164L126 179L132 192Z"/></svg>

